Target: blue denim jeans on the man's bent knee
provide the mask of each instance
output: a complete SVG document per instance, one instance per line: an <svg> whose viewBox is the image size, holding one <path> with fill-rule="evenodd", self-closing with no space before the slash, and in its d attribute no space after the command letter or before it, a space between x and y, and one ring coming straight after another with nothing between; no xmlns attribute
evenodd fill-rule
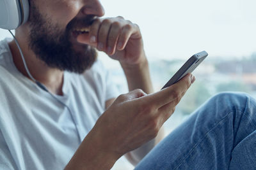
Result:
<svg viewBox="0 0 256 170"><path fill-rule="evenodd" d="M256 101L212 97L136 166L150 169L256 169Z"/></svg>

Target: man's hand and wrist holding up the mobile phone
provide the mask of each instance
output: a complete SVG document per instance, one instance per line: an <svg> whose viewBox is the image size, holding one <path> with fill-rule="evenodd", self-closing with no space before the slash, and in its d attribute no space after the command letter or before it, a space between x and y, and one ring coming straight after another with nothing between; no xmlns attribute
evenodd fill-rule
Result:
<svg viewBox="0 0 256 170"><path fill-rule="evenodd" d="M75 154L74 157L83 157L81 161L87 167L90 167L88 163L96 164L92 166L95 169L97 166L99 169L103 165L106 167L104 160L109 160L108 166L113 166L122 155L157 136L160 127L175 111L175 106L193 81L195 77L188 74L174 85L154 94L133 90L117 97L77 150L76 154L80 156ZM93 152L89 159L91 162L86 161L87 152ZM97 160L92 158L96 155Z"/></svg>

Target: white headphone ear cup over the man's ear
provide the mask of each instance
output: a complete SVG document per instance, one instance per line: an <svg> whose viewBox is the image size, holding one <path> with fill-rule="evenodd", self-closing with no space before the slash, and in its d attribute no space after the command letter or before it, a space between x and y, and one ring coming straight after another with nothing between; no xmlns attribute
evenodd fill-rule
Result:
<svg viewBox="0 0 256 170"><path fill-rule="evenodd" d="M28 20L28 0L0 0L0 28L17 29Z"/></svg>

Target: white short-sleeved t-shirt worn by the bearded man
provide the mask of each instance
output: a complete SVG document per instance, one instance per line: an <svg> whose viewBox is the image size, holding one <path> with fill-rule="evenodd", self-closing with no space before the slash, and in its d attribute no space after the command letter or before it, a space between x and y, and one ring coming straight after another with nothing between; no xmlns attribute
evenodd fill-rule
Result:
<svg viewBox="0 0 256 170"><path fill-rule="evenodd" d="M0 41L0 169L63 169L118 90L99 61L65 72L56 97L70 113L17 70L8 41Z"/></svg>

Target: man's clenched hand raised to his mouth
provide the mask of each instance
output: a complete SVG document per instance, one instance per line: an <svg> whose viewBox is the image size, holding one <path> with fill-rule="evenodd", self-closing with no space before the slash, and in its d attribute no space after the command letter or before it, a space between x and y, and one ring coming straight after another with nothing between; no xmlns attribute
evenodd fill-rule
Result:
<svg viewBox="0 0 256 170"><path fill-rule="evenodd" d="M89 34L79 35L77 41L94 46L122 64L139 64L145 60L138 25L123 17L97 18Z"/></svg>

